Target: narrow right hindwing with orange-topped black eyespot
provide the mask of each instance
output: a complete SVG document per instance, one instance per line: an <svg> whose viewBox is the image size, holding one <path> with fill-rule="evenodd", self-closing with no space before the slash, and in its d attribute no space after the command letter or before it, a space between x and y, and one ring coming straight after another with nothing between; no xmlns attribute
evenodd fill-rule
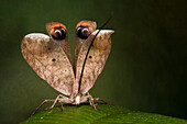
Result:
<svg viewBox="0 0 187 124"><path fill-rule="evenodd" d="M80 21L76 25L76 42L75 42L75 55L74 55L74 70L76 75L77 57L81 45L88 38L88 36L96 31L97 24L94 21ZM85 32L85 31L88 32Z"/></svg>

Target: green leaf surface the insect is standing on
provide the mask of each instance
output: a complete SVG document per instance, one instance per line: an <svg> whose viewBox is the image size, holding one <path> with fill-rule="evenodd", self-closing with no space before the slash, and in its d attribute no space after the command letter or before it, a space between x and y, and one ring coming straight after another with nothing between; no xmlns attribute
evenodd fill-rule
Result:
<svg viewBox="0 0 187 124"><path fill-rule="evenodd" d="M98 104L96 111L89 104L64 105L36 113L21 124L88 124L88 123L155 123L155 124L185 124L186 120L166 115L133 112L111 104Z"/></svg>

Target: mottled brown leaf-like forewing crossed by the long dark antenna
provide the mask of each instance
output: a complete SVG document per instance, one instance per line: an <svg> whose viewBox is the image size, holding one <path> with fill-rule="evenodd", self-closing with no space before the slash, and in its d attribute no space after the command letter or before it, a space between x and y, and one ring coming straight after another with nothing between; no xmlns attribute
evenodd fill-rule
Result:
<svg viewBox="0 0 187 124"><path fill-rule="evenodd" d="M91 33L80 48L77 58L76 83L80 80L85 56L98 30ZM114 33L112 30L101 30L91 46L81 79L80 92L82 94L87 93L90 88L92 88L97 77L100 75L106 65L107 58L110 54L112 33Z"/></svg>

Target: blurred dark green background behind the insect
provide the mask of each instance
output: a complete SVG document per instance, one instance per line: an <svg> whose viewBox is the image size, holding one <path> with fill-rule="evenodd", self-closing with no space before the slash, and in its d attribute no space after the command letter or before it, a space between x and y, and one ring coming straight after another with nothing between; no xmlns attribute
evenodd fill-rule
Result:
<svg viewBox="0 0 187 124"><path fill-rule="evenodd" d="M0 123L26 120L58 92L43 81L21 54L22 37L46 33L45 23L68 29L74 53L75 25L95 20L98 26L113 12L107 65L90 90L131 110L187 119L186 0L0 1Z"/></svg>

